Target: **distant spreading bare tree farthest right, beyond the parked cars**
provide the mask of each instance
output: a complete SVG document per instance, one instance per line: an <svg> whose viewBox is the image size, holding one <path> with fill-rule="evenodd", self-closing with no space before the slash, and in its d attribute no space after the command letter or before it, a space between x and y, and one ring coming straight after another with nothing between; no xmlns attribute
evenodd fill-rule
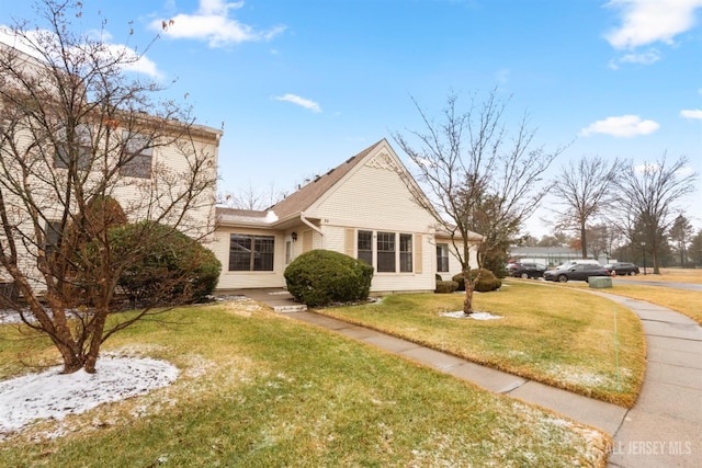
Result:
<svg viewBox="0 0 702 468"><path fill-rule="evenodd" d="M621 217L629 226L632 242L650 253L654 274L660 274L659 256L673 222L676 204L695 189L697 174L688 171L687 164L688 159L680 157L668 165L664 153L653 163L631 165L623 179Z"/></svg>

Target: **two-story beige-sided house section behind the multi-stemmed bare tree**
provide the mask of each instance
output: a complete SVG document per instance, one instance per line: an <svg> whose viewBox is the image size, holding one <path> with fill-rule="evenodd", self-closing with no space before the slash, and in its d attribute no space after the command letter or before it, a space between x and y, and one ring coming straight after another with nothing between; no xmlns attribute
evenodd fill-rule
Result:
<svg viewBox="0 0 702 468"><path fill-rule="evenodd" d="M115 198L133 222L158 220L204 240L214 230L223 132L172 107L146 113L141 84L107 87L115 94L93 102L112 68L83 68L88 78L77 79L61 60L0 43L0 283L23 277L46 288L47 252L99 197Z"/></svg>

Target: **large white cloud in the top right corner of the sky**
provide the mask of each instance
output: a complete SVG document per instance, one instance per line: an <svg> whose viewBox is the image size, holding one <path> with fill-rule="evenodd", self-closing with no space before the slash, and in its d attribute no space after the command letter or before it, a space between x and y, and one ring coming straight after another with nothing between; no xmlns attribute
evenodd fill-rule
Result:
<svg viewBox="0 0 702 468"><path fill-rule="evenodd" d="M672 44L676 35L694 26L702 0L611 0L607 5L622 11L622 25L605 38L612 47L625 49Z"/></svg>

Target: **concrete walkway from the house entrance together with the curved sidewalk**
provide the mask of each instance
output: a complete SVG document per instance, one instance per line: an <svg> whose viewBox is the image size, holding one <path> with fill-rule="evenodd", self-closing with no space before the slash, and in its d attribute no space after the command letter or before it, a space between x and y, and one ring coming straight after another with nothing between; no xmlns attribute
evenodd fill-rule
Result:
<svg viewBox="0 0 702 468"><path fill-rule="evenodd" d="M648 345L646 375L636 404L627 410L307 311L281 289L241 290L238 294L287 312L297 320L469 380L486 390L509 395L599 427L614 438L610 467L702 466L702 327L672 310L592 292L633 310L644 326Z"/></svg>

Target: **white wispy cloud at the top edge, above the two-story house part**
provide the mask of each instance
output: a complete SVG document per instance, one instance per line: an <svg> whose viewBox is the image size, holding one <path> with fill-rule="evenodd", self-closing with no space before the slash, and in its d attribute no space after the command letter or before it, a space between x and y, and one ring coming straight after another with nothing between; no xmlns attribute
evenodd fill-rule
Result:
<svg viewBox="0 0 702 468"><path fill-rule="evenodd" d="M227 3L225 0L200 0L200 9L194 14L177 14L168 21L154 21L149 26L161 31L165 37L207 41L210 47L268 41L285 30L284 26L275 26L257 31L229 18L230 10L241 7L242 1Z"/></svg>

